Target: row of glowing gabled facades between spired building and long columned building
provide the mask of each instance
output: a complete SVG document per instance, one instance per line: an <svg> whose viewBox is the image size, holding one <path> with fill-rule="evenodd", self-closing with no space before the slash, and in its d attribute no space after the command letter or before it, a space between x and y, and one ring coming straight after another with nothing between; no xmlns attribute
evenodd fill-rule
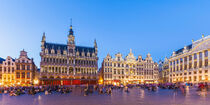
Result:
<svg viewBox="0 0 210 105"><path fill-rule="evenodd" d="M136 59L132 51L123 59L118 53L115 58L109 54L102 62L100 71L104 84L139 84L157 83L158 64L152 60L150 54L146 59L138 56Z"/></svg>

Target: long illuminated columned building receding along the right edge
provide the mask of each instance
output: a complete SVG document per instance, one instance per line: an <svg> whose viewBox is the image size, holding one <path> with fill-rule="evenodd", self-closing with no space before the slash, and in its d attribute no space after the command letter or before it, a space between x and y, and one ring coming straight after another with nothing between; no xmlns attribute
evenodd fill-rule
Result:
<svg viewBox="0 0 210 105"><path fill-rule="evenodd" d="M169 82L210 82L210 35L174 51L169 59Z"/></svg>

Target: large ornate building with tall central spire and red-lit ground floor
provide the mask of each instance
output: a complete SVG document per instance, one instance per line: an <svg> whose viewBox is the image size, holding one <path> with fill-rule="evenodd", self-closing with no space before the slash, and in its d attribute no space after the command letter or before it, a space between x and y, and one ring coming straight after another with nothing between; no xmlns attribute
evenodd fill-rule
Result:
<svg viewBox="0 0 210 105"><path fill-rule="evenodd" d="M40 53L42 84L71 85L97 81L96 40L93 47L76 46L72 26L67 44L48 43L45 39L43 34Z"/></svg>

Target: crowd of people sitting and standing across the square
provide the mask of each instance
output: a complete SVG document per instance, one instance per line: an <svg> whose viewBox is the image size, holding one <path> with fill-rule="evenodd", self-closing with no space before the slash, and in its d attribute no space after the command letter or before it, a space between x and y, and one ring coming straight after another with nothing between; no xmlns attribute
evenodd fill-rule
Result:
<svg viewBox="0 0 210 105"><path fill-rule="evenodd" d="M0 87L0 94L9 94L10 96L19 96L21 94L35 95L37 93L44 93L45 95L52 93L66 94L73 91L75 88L80 88L81 94L88 96L91 93L97 92L98 94L111 95L112 90L120 90L121 92L129 93L132 88L147 89L149 91L157 91L160 89L173 89L181 90L183 93L186 89L197 88L197 91L210 91L210 85L208 83L165 83L165 84L138 84L138 85L78 85L78 86L30 86L30 87Z"/></svg>

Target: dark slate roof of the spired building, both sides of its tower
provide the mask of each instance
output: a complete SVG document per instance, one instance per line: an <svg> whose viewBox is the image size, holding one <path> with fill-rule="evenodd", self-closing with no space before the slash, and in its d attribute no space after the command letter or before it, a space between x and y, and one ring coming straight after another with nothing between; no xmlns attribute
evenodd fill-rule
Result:
<svg viewBox="0 0 210 105"><path fill-rule="evenodd" d="M61 54L63 54L64 50L67 50L67 45L65 45L65 44L45 43L44 46L45 46L45 48L48 48L49 51L51 49L54 49L55 53L57 53L58 49L61 50ZM76 46L75 47L75 51L79 51L80 56L82 55L82 52L84 51L85 52L85 56L86 56L87 52L90 52L90 53L95 52L95 48L94 47L85 47L85 46Z"/></svg>

